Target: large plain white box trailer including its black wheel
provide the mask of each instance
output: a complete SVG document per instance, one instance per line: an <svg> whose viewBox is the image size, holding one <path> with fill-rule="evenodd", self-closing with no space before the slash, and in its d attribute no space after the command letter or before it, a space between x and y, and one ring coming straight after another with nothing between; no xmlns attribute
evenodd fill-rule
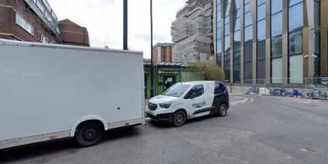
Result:
<svg viewBox="0 0 328 164"><path fill-rule="evenodd" d="M0 40L0 150L145 124L143 54Z"/></svg>

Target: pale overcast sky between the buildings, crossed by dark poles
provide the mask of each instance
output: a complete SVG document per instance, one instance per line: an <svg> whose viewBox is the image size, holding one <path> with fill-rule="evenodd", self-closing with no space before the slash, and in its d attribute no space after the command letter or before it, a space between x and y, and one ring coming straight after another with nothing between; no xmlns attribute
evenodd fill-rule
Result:
<svg viewBox="0 0 328 164"><path fill-rule="evenodd" d="M153 44L172 42L171 25L186 0L153 0ZM123 48L123 0L48 0L58 20L87 27L91 46ZM128 49L150 59L150 0L128 0Z"/></svg>

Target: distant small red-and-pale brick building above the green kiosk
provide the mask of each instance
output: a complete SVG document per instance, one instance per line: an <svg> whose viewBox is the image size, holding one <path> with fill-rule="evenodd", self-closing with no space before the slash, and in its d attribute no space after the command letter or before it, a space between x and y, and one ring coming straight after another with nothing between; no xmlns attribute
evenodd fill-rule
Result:
<svg viewBox="0 0 328 164"><path fill-rule="evenodd" d="M172 44L157 43L152 46L154 65L160 62L172 62Z"/></svg>

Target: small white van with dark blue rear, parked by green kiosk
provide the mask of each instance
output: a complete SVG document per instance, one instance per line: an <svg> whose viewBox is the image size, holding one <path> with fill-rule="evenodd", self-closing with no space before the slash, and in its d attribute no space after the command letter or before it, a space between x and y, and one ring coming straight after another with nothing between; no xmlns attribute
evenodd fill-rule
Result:
<svg viewBox="0 0 328 164"><path fill-rule="evenodd" d="M151 98L146 113L159 122L182 126L187 119L203 115L225 116L229 109L226 85L219 81L176 83L162 95Z"/></svg>

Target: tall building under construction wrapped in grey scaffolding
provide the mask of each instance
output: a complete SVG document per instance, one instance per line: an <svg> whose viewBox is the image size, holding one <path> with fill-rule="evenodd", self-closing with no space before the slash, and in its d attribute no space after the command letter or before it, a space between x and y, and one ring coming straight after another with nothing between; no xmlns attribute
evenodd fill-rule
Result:
<svg viewBox="0 0 328 164"><path fill-rule="evenodd" d="M189 0L171 27L172 61L208 61L213 52L213 0Z"/></svg>

